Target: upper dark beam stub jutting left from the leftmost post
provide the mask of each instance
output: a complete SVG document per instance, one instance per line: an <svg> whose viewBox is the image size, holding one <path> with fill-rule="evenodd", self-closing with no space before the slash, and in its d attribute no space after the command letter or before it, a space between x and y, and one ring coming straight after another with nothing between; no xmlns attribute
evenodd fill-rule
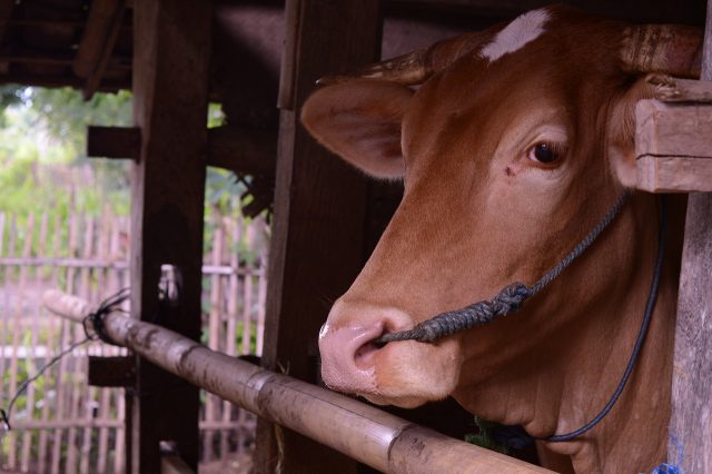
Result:
<svg viewBox="0 0 712 474"><path fill-rule="evenodd" d="M130 158L141 154L141 129L138 127L87 127L87 156Z"/></svg>

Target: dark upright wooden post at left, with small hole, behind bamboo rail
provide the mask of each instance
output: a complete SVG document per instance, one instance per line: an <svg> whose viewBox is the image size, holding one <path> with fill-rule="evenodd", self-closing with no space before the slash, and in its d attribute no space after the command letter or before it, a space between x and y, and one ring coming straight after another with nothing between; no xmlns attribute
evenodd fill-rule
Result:
<svg viewBox="0 0 712 474"><path fill-rule="evenodd" d="M197 340L212 2L139 1L134 14L134 116L141 150L131 180L131 315ZM158 298L164 264L181 278L178 304L170 308ZM136 377L127 414L129 472L160 472L161 441L172 442L197 470L198 388L141 358Z"/></svg>

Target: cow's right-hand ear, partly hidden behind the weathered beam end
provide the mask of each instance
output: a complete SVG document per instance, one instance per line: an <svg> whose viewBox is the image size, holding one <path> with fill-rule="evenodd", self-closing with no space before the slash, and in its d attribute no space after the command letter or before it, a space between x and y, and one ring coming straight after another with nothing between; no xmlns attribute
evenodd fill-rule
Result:
<svg viewBox="0 0 712 474"><path fill-rule="evenodd" d="M670 96L675 80L665 75L651 73L636 80L613 105L609 124L609 157L613 172L626 188L633 188L635 177L635 105L659 95Z"/></svg>

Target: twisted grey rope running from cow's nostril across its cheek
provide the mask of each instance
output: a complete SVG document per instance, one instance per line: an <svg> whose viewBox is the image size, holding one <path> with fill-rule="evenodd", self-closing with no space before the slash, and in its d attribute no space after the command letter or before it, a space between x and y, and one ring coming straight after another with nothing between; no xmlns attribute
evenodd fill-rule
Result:
<svg viewBox="0 0 712 474"><path fill-rule="evenodd" d="M513 283L497 293L490 300L473 303L462 309L441 313L431 319L417 324L408 330L387 333L373 340L374 344L386 344L397 340L417 340L433 343L462 330L492 323L494 319L515 313L532 296L561 275L576 258L581 256L605 228L621 213L630 191L624 191L609 213L596 226L571 250L555 267L548 270L538 282L527 287L523 283Z"/></svg>

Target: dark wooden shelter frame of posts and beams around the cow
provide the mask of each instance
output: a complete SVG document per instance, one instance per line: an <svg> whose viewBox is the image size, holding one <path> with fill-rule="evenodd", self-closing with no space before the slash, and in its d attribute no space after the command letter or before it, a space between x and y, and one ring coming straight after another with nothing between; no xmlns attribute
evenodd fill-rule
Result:
<svg viewBox="0 0 712 474"><path fill-rule="evenodd" d="M111 58L120 31L125 1L95 0L105 9L95 24L101 36L81 42L71 60L81 79L14 77L16 81L80 87L118 87L101 81L107 68L126 69ZM0 1L0 37L13 1ZM379 56L382 1L286 0L286 52L279 88L277 137L245 130L208 132L205 117L209 90L210 0L130 2L134 11L135 122L130 129L92 128L90 154L132 158L132 316L155 318L161 326L199 339L200 265L205 169L230 164L275 176L275 220L270 251L267 326L263 366L293 377L318 381L316 335L328 312L323 295L344 292L359 271L374 236L388 219L378 203L389 190L364 180L329 158L298 124L299 108L314 81L326 73L370 62ZM536 8L544 2L449 0L390 1L389 4L447 3L448 8L498 8L501 13ZM708 3L702 79L712 80L712 0ZM4 21L2 21L4 19ZM29 24L29 23L28 23ZM90 28L87 28L90 31ZM189 31L189 34L186 34ZM87 36L89 38L89 36ZM0 57L0 69L12 61L41 62L34 57ZM53 61L53 62L52 62ZM53 58L52 63L69 63ZM47 62L47 61L46 61ZM690 102L688 107L702 107ZM709 110L704 111L709 115ZM180 134L177 132L180 130ZM708 142L710 138L706 137ZM250 148L251 147L251 148ZM246 154L245 149L254 150ZM275 159L274 155L277 155ZM260 160L253 160L255 154ZM704 157L702 157L704 158ZM641 162L649 162L642 160ZM712 176L712 160L699 159L690 174ZM652 166L652 165L651 165ZM712 190L710 179L693 180L679 191L690 196L675 335L673 412L670 460L686 473L712 472ZM650 189L665 189L660 188ZM387 199L386 199L387 200ZM161 265L174 265L182 279L180 305L159 307L156 286ZM198 388L141 357L134 361L136 379L127 389L128 472L160 472L161 442L170 441L184 467L198 460ZM170 389L169 389L170 387ZM167 395L169 392L169 396ZM275 433L279 433L277 437ZM289 473L363 471L356 462L309 438L258 426L255 472L271 473L277 463ZM682 450L682 458L680 453ZM182 468L182 467L181 467Z"/></svg>

